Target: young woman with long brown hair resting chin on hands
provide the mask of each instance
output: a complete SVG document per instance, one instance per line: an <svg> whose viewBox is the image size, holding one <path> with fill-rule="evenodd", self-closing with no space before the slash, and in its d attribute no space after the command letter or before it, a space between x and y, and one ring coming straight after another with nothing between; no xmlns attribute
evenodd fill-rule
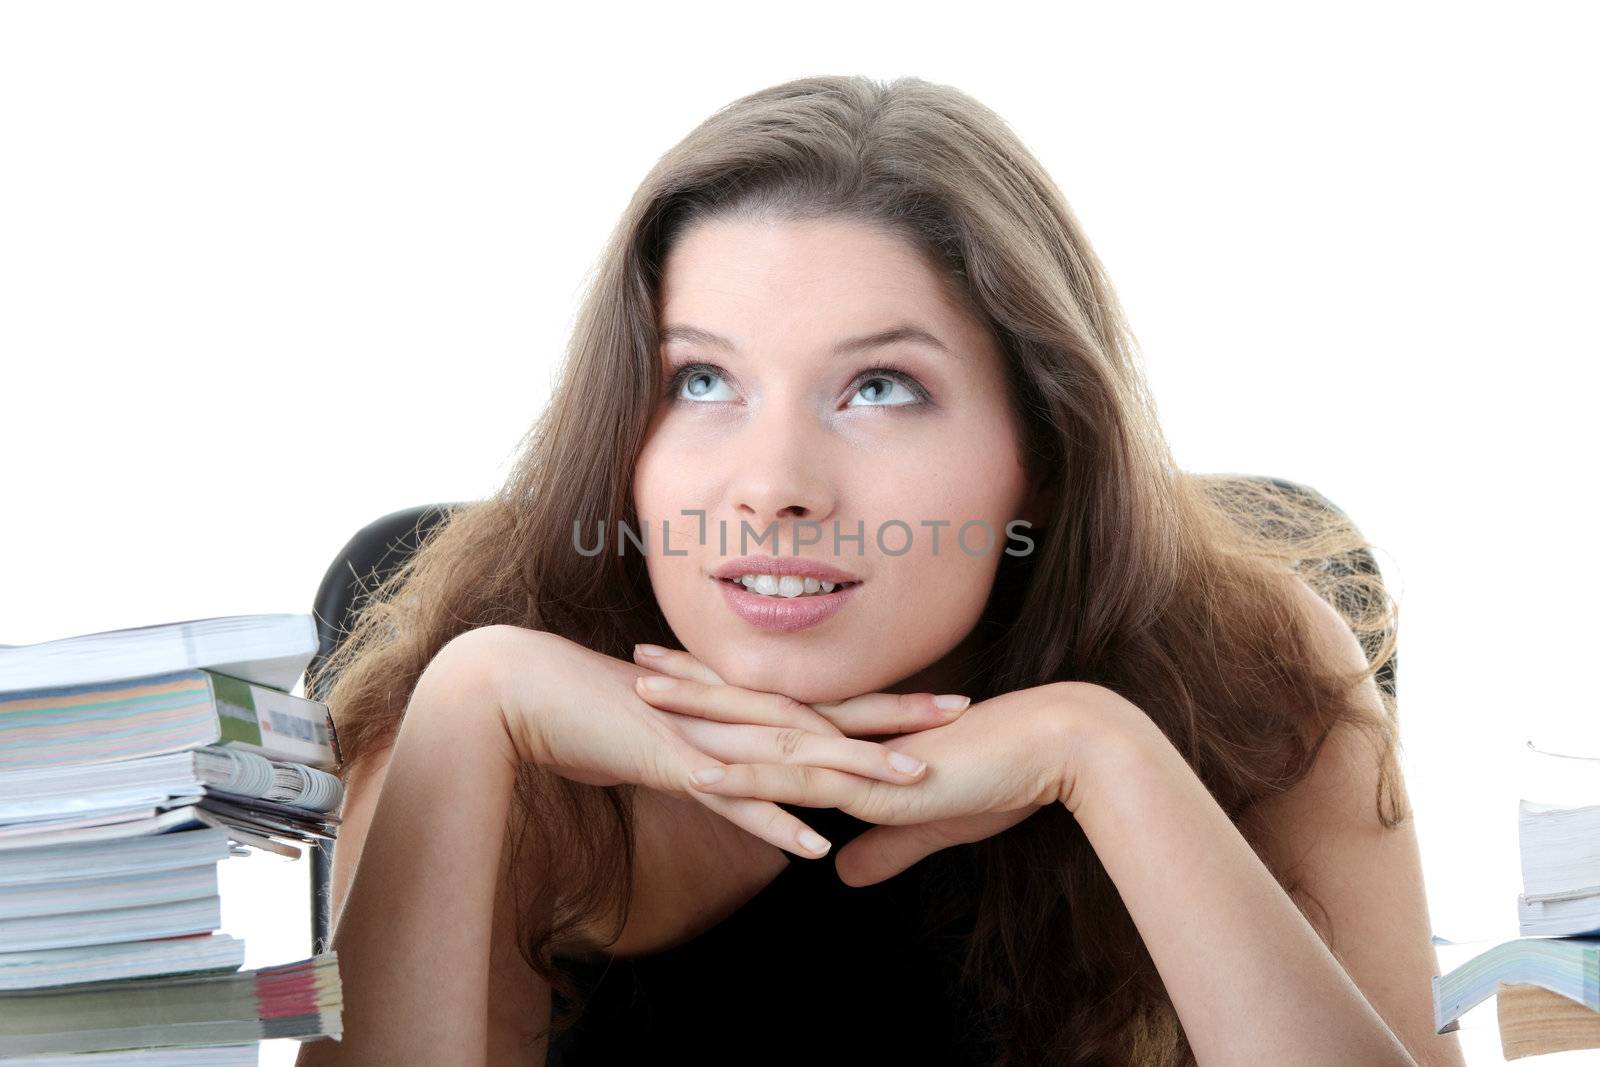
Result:
<svg viewBox="0 0 1600 1067"><path fill-rule="evenodd" d="M742 98L325 665L346 1030L301 1064L1459 1064L1363 547L1176 469L992 112ZM584 961L654 985L568 1032Z"/></svg>

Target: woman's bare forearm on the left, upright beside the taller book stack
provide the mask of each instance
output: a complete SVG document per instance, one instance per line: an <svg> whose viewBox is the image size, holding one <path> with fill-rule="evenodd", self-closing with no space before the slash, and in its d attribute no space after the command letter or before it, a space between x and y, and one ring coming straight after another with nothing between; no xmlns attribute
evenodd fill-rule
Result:
<svg viewBox="0 0 1600 1067"><path fill-rule="evenodd" d="M483 1064L517 757L488 673L442 651L411 696L333 949L344 1038L298 1067ZM544 995L549 995L546 985Z"/></svg>

